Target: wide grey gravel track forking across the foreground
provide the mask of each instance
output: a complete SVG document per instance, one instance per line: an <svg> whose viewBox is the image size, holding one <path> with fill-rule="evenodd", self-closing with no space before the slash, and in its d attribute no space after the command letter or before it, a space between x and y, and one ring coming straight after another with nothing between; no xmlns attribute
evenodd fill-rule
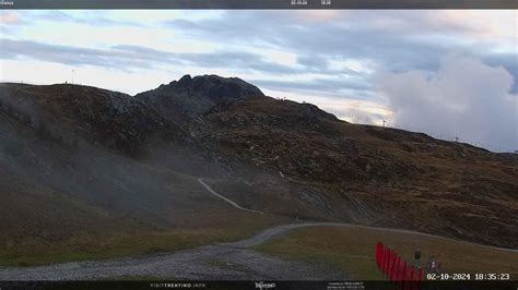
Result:
<svg viewBox="0 0 518 290"><path fill-rule="evenodd" d="M331 267L282 261L249 249L280 237L291 229L319 225L284 225L235 243L208 245L172 254L40 267L0 268L0 280L83 280L138 276L207 280L345 279L343 274ZM321 223L326 225L328 223Z"/></svg>

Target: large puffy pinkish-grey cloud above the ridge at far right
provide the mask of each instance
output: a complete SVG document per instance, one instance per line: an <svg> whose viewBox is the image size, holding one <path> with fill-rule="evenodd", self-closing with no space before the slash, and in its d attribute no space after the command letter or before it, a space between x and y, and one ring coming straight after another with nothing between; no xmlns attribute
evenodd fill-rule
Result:
<svg viewBox="0 0 518 290"><path fill-rule="evenodd" d="M388 98L396 126L513 152L518 148L513 82L502 67L450 56L435 73L386 73L378 78L378 88Z"/></svg>

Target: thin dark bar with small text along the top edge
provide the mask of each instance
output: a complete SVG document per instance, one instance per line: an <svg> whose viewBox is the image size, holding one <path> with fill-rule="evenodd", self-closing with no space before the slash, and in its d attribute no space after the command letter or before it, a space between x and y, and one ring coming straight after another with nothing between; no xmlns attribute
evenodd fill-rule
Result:
<svg viewBox="0 0 518 290"><path fill-rule="evenodd" d="M0 0L0 9L518 9L518 0Z"/></svg>

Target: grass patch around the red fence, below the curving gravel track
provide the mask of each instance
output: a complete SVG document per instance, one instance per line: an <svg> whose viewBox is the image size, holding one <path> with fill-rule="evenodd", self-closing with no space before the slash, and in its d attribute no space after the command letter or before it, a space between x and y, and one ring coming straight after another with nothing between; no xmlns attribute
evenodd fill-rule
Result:
<svg viewBox="0 0 518 290"><path fill-rule="evenodd" d="M378 280L385 279L376 265L378 241L396 250L409 263L413 263L415 249L421 249L421 265L435 255L444 273L508 273L514 279L518 277L518 252L354 226L301 228L256 250L282 258L331 264L351 279Z"/></svg>

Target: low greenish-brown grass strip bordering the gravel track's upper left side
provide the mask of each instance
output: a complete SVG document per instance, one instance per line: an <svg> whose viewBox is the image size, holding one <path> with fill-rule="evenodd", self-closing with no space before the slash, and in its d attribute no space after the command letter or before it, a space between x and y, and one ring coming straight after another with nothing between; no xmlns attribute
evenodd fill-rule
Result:
<svg viewBox="0 0 518 290"><path fill-rule="evenodd" d="M185 225L178 229L120 227L105 228L97 232L92 232L89 228L61 239L45 238L37 233L17 240L2 238L0 266L35 266L175 252L237 241L283 221L274 216L258 216L233 209L197 214L192 219L197 219L195 222L198 226ZM202 223L204 225L201 226ZM106 223L108 227L113 225L114 220Z"/></svg>

